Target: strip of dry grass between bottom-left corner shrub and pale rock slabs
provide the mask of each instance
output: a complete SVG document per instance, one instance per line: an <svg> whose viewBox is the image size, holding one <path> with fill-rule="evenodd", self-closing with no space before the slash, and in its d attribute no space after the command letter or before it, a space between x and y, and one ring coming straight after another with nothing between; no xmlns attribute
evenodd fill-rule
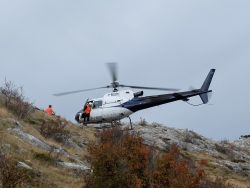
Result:
<svg viewBox="0 0 250 188"><path fill-rule="evenodd" d="M34 171L41 174L41 178L46 180L41 187L67 188L82 186L83 177L77 177L74 172L56 166L54 162L58 159L53 159L53 155L51 155L50 160L48 160L48 157L46 157L49 156L48 153L34 147L30 150L31 146L29 144L18 141L18 139L12 135L5 135L5 144L11 146L11 148L7 148L11 150L8 151L11 156L29 164ZM34 153L36 153L36 155ZM60 159L66 161L62 156L60 156Z"/></svg>

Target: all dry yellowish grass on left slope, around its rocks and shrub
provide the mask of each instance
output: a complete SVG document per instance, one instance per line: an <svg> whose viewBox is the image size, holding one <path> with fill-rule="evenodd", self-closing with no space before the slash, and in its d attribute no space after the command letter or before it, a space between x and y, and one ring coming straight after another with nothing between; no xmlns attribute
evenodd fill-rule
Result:
<svg viewBox="0 0 250 188"><path fill-rule="evenodd" d="M14 128L15 124L14 116L9 113L4 107L0 106L0 151L4 152L12 157L16 158L18 161L22 161L32 167L33 171L39 174L39 180L41 181L35 187L53 187L53 188L69 188L69 187L82 187L83 186L83 175L79 174L73 170L64 169L55 163L50 163L46 161L46 157L42 159L43 156L50 155L42 149L32 146L17 136L15 136L8 128ZM1 119L2 118L2 119ZM21 129L31 134L38 139L46 142L50 146L56 148L63 148L70 155L79 157L80 159L85 159L87 155L87 150L85 148L77 149L69 146L65 146L62 143L56 142L53 139L44 138L39 132L39 126L44 120L53 119L55 117L47 116L42 111L35 111L30 115L28 119L19 120L21 124ZM65 129L70 132L70 135L79 142L82 140L95 140L95 129L84 127L79 128L67 122L65 119L66 127ZM39 156L39 157L37 157ZM50 155L51 160L62 160L71 161L65 156L56 156L55 154Z"/></svg>

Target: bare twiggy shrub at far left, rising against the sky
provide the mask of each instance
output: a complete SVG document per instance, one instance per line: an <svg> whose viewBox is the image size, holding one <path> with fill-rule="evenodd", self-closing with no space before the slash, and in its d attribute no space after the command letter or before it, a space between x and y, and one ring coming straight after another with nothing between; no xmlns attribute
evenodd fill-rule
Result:
<svg viewBox="0 0 250 188"><path fill-rule="evenodd" d="M4 96L5 107L19 119L25 119L33 111L32 103L25 100L22 87L16 87L11 81L5 80L0 93Z"/></svg>

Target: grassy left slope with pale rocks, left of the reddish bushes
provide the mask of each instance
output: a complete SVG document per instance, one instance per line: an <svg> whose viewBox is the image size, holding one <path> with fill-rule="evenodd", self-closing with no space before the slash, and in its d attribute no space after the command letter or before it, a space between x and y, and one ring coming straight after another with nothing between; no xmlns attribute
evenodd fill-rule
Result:
<svg viewBox="0 0 250 188"><path fill-rule="evenodd" d="M63 131L54 130L56 136L41 134L44 122L54 126L51 122L57 121L64 124ZM84 174L90 170L87 144L94 140L93 128L81 129L39 110L24 121L18 120L0 107L0 155L32 172L32 181L23 187L81 187Z"/></svg>

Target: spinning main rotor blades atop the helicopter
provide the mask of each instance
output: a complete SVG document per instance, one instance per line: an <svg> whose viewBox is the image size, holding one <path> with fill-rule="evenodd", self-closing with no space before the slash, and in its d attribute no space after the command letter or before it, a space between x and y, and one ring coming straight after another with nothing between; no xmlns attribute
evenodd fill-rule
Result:
<svg viewBox="0 0 250 188"><path fill-rule="evenodd" d="M67 91L62 93L55 93L54 96L63 96L63 95L69 95L74 93L80 93L85 91L92 91L97 89L104 89L104 88L113 88L113 91L118 91L118 88L127 87L127 88L133 88L133 89L152 89L152 90L162 90L162 91L178 91L178 89L175 88L159 88L159 87L145 87L145 86L134 86L134 85L124 85L120 84L117 79L117 63L107 63L108 69L110 71L112 82L107 86L102 87L96 87L96 88L90 88L90 89L81 89L81 90L75 90L75 91Z"/></svg>

